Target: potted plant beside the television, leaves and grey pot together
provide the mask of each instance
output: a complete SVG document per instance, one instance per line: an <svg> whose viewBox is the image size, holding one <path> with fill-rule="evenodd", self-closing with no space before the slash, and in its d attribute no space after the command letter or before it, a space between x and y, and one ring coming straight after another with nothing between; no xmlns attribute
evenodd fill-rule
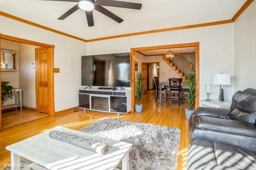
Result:
<svg viewBox="0 0 256 170"><path fill-rule="evenodd" d="M143 94L143 83L144 83L144 72L137 72L136 80L135 80L135 95L138 100L138 104L135 104L135 111L137 113L141 113L143 109L143 104L141 104L141 100L144 96Z"/></svg>

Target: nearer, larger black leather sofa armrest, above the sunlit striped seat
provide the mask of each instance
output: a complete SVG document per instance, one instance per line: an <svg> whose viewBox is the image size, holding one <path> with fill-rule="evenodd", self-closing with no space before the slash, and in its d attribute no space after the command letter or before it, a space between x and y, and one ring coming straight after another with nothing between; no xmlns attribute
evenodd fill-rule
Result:
<svg viewBox="0 0 256 170"><path fill-rule="evenodd" d="M192 115L190 140L204 138L256 151L256 125L244 121Z"/></svg>

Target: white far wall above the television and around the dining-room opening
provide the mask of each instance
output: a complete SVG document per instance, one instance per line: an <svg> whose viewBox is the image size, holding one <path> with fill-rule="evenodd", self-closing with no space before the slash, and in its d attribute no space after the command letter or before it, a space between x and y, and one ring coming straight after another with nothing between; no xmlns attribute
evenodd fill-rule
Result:
<svg viewBox="0 0 256 170"><path fill-rule="evenodd" d="M232 75L232 85L225 86L226 100L234 94L234 24L222 24L177 31L137 35L95 41L87 44L87 54L124 53L130 48L200 42L200 100L206 99L204 84L212 84L213 74ZM100 49L100 51L99 51ZM162 72L160 70L160 72ZM160 78L161 78L160 74ZM210 98L219 97L219 86L212 86Z"/></svg>

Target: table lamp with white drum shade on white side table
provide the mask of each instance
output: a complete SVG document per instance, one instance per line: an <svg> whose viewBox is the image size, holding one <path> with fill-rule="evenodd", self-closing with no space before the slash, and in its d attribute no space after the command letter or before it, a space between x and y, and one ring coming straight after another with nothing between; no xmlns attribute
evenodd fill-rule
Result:
<svg viewBox="0 0 256 170"><path fill-rule="evenodd" d="M220 85L220 97L219 102L226 102L224 98L224 85L231 85L231 76L230 74L214 74L213 75L213 84Z"/></svg>

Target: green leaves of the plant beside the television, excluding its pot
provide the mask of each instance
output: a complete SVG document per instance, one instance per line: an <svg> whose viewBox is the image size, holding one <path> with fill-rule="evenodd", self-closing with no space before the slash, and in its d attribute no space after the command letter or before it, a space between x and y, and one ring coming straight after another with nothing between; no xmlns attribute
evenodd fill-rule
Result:
<svg viewBox="0 0 256 170"><path fill-rule="evenodd" d="M145 82L144 80L144 72L137 72L136 74L136 80L135 80L135 94L138 99L138 104L140 104L144 94L143 94L143 84Z"/></svg>

